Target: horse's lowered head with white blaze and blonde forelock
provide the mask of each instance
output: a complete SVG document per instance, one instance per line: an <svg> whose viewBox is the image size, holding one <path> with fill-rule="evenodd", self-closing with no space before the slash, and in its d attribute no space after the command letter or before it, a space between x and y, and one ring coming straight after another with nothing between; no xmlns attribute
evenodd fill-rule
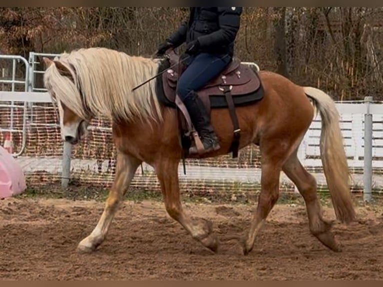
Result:
<svg viewBox="0 0 383 287"><path fill-rule="evenodd" d="M81 91L75 83L74 71L70 71L58 60L44 58L44 62L47 66L44 83L53 101L57 103L61 137L76 144L86 136L90 119L84 115L82 104L78 104ZM75 112L75 109L79 112Z"/></svg>

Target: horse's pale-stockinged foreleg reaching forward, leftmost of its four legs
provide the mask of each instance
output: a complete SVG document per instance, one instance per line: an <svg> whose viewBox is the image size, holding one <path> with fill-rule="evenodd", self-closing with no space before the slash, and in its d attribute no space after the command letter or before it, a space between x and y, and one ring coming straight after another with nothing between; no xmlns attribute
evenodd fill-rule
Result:
<svg viewBox="0 0 383 287"><path fill-rule="evenodd" d="M91 234L78 244L78 251L92 252L103 242L123 195L129 187L140 163L141 161L135 157L118 153L113 185L106 199L102 215Z"/></svg>

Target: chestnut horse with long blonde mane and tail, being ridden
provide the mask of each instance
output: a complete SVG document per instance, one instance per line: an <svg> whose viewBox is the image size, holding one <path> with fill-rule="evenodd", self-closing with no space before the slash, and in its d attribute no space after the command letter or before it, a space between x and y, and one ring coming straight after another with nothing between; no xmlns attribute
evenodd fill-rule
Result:
<svg viewBox="0 0 383 287"><path fill-rule="evenodd" d="M78 243L78 252L94 252L105 240L142 162L155 171L168 215L207 250L219 251L213 223L192 218L182 205L178 166L183 153L176 109L158 100L158 79L134 89L154 78L165 60L102 47L80 48L54 59L44 58L44 85L58 107L62 140L77 144L86 136L90 120L102 116L111 120L117 150L115 176L103 212L92 232ZM340 252L341 244L332 232L335 220L323 217L316 180L297 157L300 142L320 114L320 156L336 220L343 224L356 220L336 105L327 93L315 87L299 86L272 71L260 70L258 75L263 98L235 108L241 133L239 149L255 144L261 155L258 204L248 229L236 239L244 255L253 250L255 239L278 200L279 175L283 171L304 199L311 234L326 248ZM228 109L212 108L210 116L220 149L189 155L190 158L216 157L230 150L233 133Z"/></svg>

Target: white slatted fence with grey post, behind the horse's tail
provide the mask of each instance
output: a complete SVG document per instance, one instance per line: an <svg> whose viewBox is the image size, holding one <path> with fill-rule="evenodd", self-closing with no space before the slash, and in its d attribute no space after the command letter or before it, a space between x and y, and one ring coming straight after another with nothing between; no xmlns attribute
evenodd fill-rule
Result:
<svg viewBox="0 0 383 287"><path fill-rule="evenodd" d="M383 168L383 104L373 103L372 97L364 102L337 103L340 128L348 166L363 171L364 200L371 199L372 170ZM306 133L299 148L304 166L320 167L319 138L321 121L318 116Z"/></svg>

